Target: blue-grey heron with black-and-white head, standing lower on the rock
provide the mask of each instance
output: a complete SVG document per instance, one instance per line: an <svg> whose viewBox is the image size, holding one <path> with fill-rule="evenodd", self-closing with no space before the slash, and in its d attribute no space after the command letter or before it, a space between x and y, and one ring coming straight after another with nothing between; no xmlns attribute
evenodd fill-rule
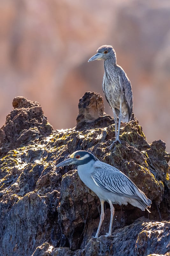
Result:
<svg viewBox="0 0 170 256"><path fill-rule="evenodd" d="M150 207L152 202L137 186L121 171L110 164L99 161L94 155L87 151L76 151L70 157L56 167L76 164L80 179L84 184L96 193L101 202L100 222L95 237L104 219L104 201L110 204L110 227L107 236L111 236L112 222L114 216L113 204L132 204L142 211Z"/></svg>

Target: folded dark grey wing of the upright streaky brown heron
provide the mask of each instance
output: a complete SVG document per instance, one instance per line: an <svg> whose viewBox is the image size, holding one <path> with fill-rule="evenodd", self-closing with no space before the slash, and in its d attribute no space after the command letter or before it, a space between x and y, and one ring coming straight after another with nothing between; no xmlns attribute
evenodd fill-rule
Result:
<svg viewBox="0 0 170 256"><path fill-rule="evenodd" d="M129 78L126 76L124 70L121 70L119 73L119 83L122 94L124 96L124 100L126 102L128 113L129 113L129 121L131 120L132 111L133 111L133 94L131 88L131 82Z"/></svg>

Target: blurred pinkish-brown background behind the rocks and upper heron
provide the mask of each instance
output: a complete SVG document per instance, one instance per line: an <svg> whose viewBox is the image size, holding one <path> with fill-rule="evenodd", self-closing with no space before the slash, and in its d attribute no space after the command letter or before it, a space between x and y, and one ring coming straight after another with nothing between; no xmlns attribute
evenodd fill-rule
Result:
<svg viewBox="0 0 170 256"><path fill-rule="evenodd" d="M103 96L103 61L87 61L110 44L147 141L170 151L169 0L1 0L0 35L0 126L13 98L25 96L54 129L74 127L84 92Z"/></svg>

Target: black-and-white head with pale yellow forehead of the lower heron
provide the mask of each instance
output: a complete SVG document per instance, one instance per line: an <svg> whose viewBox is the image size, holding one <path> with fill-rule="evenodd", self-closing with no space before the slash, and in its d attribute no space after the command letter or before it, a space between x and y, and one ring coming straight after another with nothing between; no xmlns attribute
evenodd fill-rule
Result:
<svg viewBox="0 0 170 256"><path fill-rule="evenodd" d="M79 150L79 151L75 151L73 154L69 156L69 158L62 161L60 164L57 164L56 167L66 166L71 164L76 164L76 165L87 164L91 160L96 161L98 159L96 158L96 156L93 156L93 154L87 151Z"/></svg>

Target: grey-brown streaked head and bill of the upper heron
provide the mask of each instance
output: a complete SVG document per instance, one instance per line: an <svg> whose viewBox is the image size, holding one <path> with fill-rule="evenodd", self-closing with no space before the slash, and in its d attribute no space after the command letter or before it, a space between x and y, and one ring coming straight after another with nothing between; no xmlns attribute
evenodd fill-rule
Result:
<svg viewBox="0 0 170 256"><path fill-rule="evenodd" d="M116 63L116 52L111 45L102 45L98 48L97 53L89 61L113 59Z"/></svg>

